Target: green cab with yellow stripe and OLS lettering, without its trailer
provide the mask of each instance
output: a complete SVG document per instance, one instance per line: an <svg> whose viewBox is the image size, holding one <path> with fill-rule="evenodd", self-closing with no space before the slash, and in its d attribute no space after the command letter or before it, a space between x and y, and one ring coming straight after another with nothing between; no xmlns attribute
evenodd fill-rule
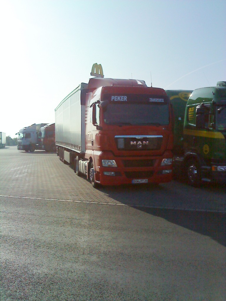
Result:
<svg viewBox="0 0 226 301"><path fill-rule="evenodd" d="M189 182L226 182L226 82L190 95L184 118L184 168Z"/></svg>

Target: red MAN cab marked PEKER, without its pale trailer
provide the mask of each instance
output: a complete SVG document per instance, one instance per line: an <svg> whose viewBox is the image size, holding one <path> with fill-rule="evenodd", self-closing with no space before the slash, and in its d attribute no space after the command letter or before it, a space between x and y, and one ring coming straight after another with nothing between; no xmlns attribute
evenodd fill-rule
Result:
<svg viewBox="0 0 226 301"><path fill-rule="evenodd" d="M94 79L100 87L86 99L85 159L92 158L95 181L171 181L172 120L165 91L142 81L107 80L110 86Z"/></svg>

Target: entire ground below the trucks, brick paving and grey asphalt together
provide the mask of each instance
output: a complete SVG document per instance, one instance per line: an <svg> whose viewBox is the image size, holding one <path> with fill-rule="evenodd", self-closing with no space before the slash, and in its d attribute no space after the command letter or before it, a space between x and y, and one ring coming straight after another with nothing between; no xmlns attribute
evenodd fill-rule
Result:
<svg viewBox="0 0 226 301"><path fill-rule="evenodd" d="M1 301L225 301L225 187L95 190L55 154L0 162Z"/></svg>

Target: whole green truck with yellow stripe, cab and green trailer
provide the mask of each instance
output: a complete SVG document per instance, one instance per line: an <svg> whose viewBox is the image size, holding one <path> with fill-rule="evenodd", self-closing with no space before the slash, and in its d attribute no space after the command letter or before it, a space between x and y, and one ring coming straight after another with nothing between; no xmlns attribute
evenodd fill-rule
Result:
<svg viewBox="0 0 226 301"><path fill-rule="evenodd" d="M166 93L174 109L174 174L196 187L226 183L226 82Z"/></svg>

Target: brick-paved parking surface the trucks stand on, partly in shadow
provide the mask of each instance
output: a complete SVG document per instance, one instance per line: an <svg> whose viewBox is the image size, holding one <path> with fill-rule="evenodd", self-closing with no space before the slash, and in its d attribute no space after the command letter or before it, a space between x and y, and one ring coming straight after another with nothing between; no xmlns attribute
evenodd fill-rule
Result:
<svg viewBox="0 0 226 301"><path fill-rule="evenodd" d="M0 196L226 212L225 186L193 188L172 181L94 189L56 154L17 147L0 149L0 163Z"/></svg>

